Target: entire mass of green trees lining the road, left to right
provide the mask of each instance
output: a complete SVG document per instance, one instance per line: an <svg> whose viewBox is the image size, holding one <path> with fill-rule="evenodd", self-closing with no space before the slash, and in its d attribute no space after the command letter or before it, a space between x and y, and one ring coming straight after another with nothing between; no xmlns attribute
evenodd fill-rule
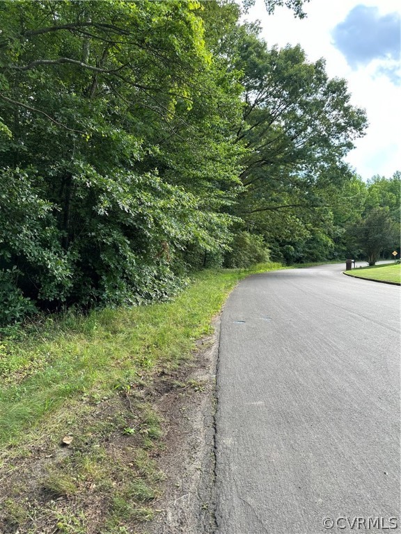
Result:
<svg viewBox="0 0 401 534"><path fill-rule="evenodd" d="M400 173L364 184L344 163L366 127L345 81L240 15L0 3L0 324L163 299L208 266L361 257L363 228L397 233Z"/></svg>

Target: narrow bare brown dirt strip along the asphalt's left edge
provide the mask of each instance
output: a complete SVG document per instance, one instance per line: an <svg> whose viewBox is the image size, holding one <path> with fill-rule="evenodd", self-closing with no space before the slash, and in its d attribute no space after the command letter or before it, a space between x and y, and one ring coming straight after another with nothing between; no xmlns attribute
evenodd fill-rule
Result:
<svg viewBox="0 0 401 534"><path fill-rule="evenodd" d="M214 390L219 319L215 332L198 343L194 362L186 370L185 388L157 401L164 416L166 448L159 467L166 474L158 513L143 526L146 534L209 534L214 521Z"/></svg>

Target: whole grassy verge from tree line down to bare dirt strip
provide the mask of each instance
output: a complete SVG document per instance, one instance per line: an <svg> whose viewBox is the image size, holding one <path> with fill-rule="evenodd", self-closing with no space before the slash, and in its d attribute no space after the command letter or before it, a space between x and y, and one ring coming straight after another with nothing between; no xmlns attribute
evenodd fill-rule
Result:
<svg viewBox="0 0 401 534"><path fill-rule="evenodd" d="M180 375L196 340L239 280L280 267L205 270L171 302L48 317L4 339L0 532L127 534L152 519L158 391L196 391Z"/></svg>

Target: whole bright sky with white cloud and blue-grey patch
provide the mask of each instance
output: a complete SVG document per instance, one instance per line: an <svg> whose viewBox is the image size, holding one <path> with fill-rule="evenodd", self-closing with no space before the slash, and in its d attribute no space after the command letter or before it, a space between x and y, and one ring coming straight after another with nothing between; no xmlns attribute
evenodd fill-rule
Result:
<svg viewBox="0 0 401 534"><path fill-rule="evenodd" d="M325 58L331 78L347 80L351 102L365 108L369 127L346 161L367 180L401 170L400 0L311 0L306 19L263 0L244 16L260 20L269 46L300 44L308 60Z"/></svg>

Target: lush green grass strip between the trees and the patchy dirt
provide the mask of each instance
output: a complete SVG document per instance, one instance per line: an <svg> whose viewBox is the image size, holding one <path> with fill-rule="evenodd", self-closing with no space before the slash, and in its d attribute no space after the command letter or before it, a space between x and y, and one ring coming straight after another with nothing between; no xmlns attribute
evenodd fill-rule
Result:
<svg viewBox="0 0 401 534"><path fill-rule="evenodd" d="M175 300L89 316L47 318L19 341L0 345L0 445L37 426L68 398L109 395L158 364L178 365L246 275L279 268L206 270Z"/></svg>

